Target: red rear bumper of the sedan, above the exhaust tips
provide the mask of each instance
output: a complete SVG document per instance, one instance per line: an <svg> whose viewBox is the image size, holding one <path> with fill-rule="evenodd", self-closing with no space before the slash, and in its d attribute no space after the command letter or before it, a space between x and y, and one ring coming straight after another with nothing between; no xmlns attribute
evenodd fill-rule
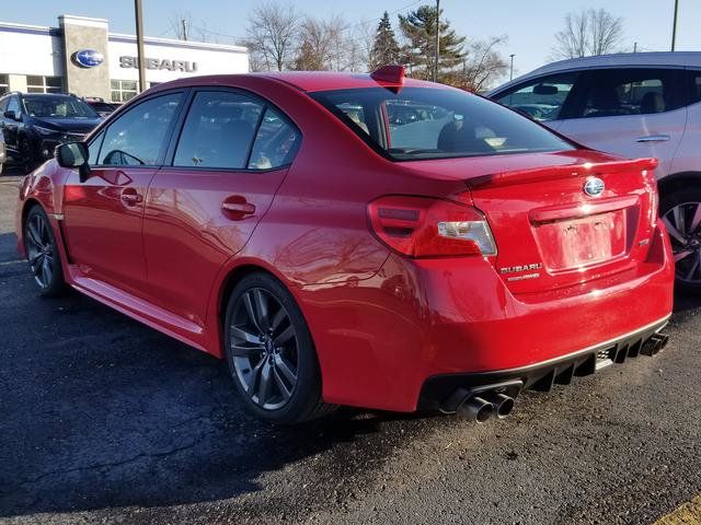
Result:
<svg viewBox="0 0 701 525"><path fill-rule="evenodd" d="M654 329L671 313L673 284L659 226L635 270L538 296L513 295L479 258L390 256L371 279L298 299L326 401L413 411L433 377L508 376Z"/></svg>

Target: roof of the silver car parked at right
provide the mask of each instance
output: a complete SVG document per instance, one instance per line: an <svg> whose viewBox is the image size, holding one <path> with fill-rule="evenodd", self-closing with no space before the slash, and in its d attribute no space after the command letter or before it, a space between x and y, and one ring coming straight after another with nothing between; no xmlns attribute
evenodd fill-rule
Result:
<svg viewBox="0 0 701 525"><path fill-rule="evenodd" d="M514 79L498 86L494 92L502 91L514 84L533 77L565 71L616 68L616 67L645 67L666 66L677 68L701 68L701 51L655 51L655 52L617 52L613 55L599 55L596 57L571 58L548 63L530 73ZM493 93L494 93L493 92Z"/></svg>

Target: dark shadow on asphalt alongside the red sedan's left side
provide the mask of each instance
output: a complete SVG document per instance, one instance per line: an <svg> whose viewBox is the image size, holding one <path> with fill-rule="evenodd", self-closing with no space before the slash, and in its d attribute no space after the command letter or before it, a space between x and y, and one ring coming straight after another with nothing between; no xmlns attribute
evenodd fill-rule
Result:
<svg viewBox="0 0 701 525"><path fill-rule="evenodd" d="M0 517L263 489L294 515L346 498L423 425L348 409L263 424L242 412L226 363L87 298L41 300L28 276L12 281L0 288ZM264 485L263 474L292 465L287 481Z"/></svg>

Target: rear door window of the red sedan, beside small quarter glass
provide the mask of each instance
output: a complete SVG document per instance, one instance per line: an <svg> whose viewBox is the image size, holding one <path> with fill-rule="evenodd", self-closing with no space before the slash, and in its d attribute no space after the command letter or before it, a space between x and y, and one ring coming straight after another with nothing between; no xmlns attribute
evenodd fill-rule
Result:
<svg viewBox="0 0 701 525"><path fill-rule="evenodd" d="M177 141L174 166L243 170L264 106L239 93L195 95Z"/></svg>

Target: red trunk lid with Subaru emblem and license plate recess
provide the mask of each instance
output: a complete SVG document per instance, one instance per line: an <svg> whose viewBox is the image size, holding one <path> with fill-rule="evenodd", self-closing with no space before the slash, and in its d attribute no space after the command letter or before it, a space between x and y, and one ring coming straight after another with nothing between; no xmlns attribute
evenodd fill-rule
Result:
<svg viewBox="0 0 701 525"><path fill-rule="evenodd" d="M645 260L656 217L655 160L575 150L460 161L441 176L462 173L513 293L576 285Z"/></svg>

